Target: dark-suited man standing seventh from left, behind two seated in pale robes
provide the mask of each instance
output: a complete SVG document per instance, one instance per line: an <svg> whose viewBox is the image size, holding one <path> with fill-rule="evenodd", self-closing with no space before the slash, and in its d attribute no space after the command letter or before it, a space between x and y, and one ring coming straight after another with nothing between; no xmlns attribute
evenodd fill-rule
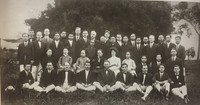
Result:
<svg viewBox="0 0 200 105"><path fill-rule="evenodd" d="M69 34L68 35L68 40L66 41L66 47L69 50L69 56L72 57L73 63L76 62L76 42L74 41L74 35Z"/></svg>

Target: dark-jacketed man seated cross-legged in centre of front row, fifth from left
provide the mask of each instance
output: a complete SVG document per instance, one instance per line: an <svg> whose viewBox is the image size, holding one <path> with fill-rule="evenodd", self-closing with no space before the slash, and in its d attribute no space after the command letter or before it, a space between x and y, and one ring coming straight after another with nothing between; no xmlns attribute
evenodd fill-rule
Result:
<svg viewBox="0 0 200 105"><path fill-rule="evenodd" d="M104 61L104 70L101 71L97 76L97 82L94 85L101 92L109 92L114 90L113 85L115 84L115 73L109 69L110 62Z"/></svg>

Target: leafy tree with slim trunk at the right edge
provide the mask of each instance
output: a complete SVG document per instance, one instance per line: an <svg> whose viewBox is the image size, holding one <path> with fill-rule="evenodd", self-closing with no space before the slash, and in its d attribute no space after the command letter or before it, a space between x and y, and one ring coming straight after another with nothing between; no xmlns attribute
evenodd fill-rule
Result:
<svg viewBox="0 0 200 105"><path fill-rule="evenodd" d="M187 2L178 3L173 7L172 18L173 21L180 21L181 19L186 20L199 35L197 59L200 60L200 3L190 3L190 5ZM188 24L181 25L179 30L182 29L187 31L188 37L191 35ZM179 32L181 33L181 31Z"/></svg>

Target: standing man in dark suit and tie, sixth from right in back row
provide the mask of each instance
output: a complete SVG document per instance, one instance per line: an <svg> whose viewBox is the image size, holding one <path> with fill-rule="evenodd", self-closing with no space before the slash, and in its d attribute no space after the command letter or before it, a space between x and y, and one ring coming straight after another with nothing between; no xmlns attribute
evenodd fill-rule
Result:
<svg viewBox="0 0 200 105"><path fill-rule="evenodd" d="M144 46L141 44L141 37L136 38L136 44L132 47L132 59L135 61L136 65L141 63L141 57L143 55Z"/></svg>

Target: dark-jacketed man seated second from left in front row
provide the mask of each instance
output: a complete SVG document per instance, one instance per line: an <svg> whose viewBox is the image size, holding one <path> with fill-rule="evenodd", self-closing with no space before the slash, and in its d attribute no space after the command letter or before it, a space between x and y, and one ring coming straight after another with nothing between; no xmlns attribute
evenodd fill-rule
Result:
<svg viewBox="0 0 200 105"><path fill-rule="evenodd" d="M40 83L34 88L35 91L40 92L38 96L41 93L48 93L55 88L56 75L57 73L53 68L52 62L47 62L46 69L41 75Z"/></svg>

